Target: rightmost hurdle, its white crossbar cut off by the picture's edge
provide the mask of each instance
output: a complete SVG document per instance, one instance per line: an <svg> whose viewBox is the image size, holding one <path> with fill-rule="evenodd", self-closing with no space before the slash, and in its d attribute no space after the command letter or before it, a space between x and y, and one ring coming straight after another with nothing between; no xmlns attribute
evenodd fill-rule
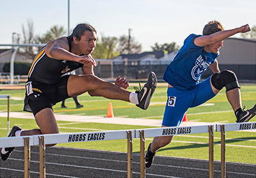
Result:
<svg viewBox="0 0 256 178"><path fill-rule="evenodd" d="M216 124L216 131L221 132L221 178L226 177L226 131L256 130L256 122Z"/></svg>

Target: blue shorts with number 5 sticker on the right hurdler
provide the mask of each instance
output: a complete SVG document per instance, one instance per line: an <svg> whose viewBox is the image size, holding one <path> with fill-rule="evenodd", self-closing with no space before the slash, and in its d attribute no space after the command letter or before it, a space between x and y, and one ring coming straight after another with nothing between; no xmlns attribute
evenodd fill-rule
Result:
<svg viewBox="0 0 256 178"><path fill-rule="evenodd" d="M211 87L211 77L196 85L195 89L182 91L168 87L168 100L164 110L163 126L179 126L188 108L197 107L216 94Z"/></svg>

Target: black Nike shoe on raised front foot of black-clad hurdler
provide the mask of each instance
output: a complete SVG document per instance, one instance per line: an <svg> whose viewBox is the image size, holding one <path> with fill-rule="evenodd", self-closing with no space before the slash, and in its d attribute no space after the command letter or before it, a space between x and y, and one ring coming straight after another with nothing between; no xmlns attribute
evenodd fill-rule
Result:
<svg viewBox="0 0 256 178"><path fill-rule="evenodd" d="M144 110L148 108L152 95L156 90L156 83L156 74L153 71L151 71L148 75L148 81L142 89L134 87L134 89L136 90L135 93L138 93L139 104L136 105L137 107L140 107Z"/></svg>

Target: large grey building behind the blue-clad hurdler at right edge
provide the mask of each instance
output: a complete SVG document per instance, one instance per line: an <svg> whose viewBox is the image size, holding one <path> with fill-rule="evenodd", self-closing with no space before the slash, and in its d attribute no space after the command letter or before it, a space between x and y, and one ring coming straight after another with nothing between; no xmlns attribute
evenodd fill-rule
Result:
<svg viewBox="0 0 256 178"><path fill-rule="evenodd" d="M256 82L256 40L228 38L217 58L220 70L232 70L240 82ZM205 71L203 78L212 74Z"/></svg>

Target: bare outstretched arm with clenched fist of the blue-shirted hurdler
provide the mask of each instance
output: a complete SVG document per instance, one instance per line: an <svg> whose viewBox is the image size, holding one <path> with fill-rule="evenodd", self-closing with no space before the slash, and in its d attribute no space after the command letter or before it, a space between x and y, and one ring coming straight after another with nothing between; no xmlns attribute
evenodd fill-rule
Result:
<svg viewBox="0 0 256 178"><path fill-rule="evenodd" d="M227 39L228 37L233 36L234 34L246 33L250 30L251 29L250 29L249 25L246 24L244 26L237 27L235 29L219 31L219 32L211 34L211 35L200 36L200 37L194 39L194 43L198 47L205 47L207 45L211 45L213 43L218 43L220 41L223 41L223 40Z"/></svg>

